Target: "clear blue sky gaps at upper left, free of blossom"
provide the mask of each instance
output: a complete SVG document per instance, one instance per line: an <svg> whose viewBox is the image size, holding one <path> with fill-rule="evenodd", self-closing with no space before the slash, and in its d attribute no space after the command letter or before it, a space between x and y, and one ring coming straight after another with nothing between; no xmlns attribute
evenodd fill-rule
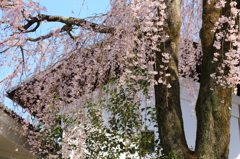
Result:
<svg viewBox="0 0 240 159"><path fill-rule="evenodd" d="M86 18L96 14L104 14L110 8L110 0L36 0L47 9L48 15ZM61 27L61 23L42 23L35 36L49 33L53 27ZM4 71L5 70L5 71ZM0 69L1 79L4 79L7 74L12 72L12 69ZM4 105L13 109L13 102L9 99L4 100ZM16 111L16 110L15 110Z"/></svg>

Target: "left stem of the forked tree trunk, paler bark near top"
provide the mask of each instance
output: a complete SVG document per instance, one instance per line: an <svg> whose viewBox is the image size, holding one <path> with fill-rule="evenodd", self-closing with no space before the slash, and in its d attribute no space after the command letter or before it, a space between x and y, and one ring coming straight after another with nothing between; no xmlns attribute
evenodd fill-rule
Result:
<svg viewBox="0 0 240 159"><path fill-rule="evenodd" d="M178 156L178 159L190 159L192 158L192 154L188 149L183 130L178 75L178 43L181 27L180 0L165 0L165 3L168 14L168 29L165 31L169 35L169 39L162 44L162 46L159 46L161 52L155 53L154 69L158 72L162 71L162 68L159 67L163 65L163 56L161 53L169 53L171 59L168 63L166 73L170 73L171 76L165 77L163 80L166 80L167 84L171 85L171 88L168 88L167 85L164 84L154 86L158 131L165 155L175 154ZM158 80L159 77L160 76L156 75L155 80Z"/></svg>

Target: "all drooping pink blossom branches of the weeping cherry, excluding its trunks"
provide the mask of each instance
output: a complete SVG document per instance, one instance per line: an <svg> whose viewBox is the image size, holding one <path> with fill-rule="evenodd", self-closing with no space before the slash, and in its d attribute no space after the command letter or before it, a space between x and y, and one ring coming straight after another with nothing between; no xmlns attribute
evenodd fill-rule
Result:
<svg viewBox="0 0 240 159"><path fill-rule="evenodd" d="M182 1L176 57L165 48L174 48L178 34L172 33L174 20L168 19L163 0L111 0L109 12L91 20L42 14L44 7L31 0L0 1L1 29L6 31L0 33L0 66L14 68L1 84L9 89L20 79L8 96L35 116L24 124L32 151L55 158L114 158L123 152L146 156L141 130L157 122L151 88L172 89L169 67L177 58L181 76L200 78L202 47L197 34L202 2L196 2ZM216 7L224 5L220 1ZM230 15L215 23L213 43L218 50L213 62L220 60L221 65L212 77L227 86L239 82L239 4L230 5ZM44 22L64 26L34 37L31 33ZM230 50L224 50L226 43ZM28 78L22 81L23 77ZM36 129L27 132L32 122Z"/></svg>

